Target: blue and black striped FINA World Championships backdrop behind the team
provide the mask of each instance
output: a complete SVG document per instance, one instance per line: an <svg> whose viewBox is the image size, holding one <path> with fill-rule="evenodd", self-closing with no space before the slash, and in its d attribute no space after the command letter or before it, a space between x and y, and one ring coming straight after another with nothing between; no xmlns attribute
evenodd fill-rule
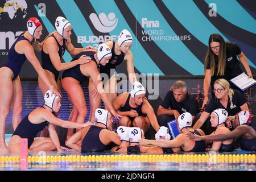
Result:
<svg viewBox="0 0 256 182"><path fill-rule="evenodd" d="M204 57L210 34L217 33L226 41L236 42L245 53L253 74L256 74L256 1L251 0L6 0L0 1L0 64L5 61L15 39L26 31L28 18L35 16L43 24L42 41L55 31L55 19L64 16L72 24L71 40L75 47L94 46L117 40L126 28L133 36L131 51L135 72L158 73L162 76L204 75ZM36 53L40 60L40 54ZM71 61L66 51L63 61ZM127 73L126 64L117 73ZM20 78L37 80L37 73L26 61ZM181 77L182 78L182 77ZM160 81L159 98L164 98L175 79ZM202 78L185 80L189 92L202 101ZM23 113L42 104L37 82L22 82ZM86 91L88 99L88 91ZM65 93L64 93L65 94ZM247 90L246 98L255 114L255 86ZM89 106L88 106L89 107ZM60 117L67 119L71 106L63 100ZM11 113L7 123L11 124Z"/></svg>

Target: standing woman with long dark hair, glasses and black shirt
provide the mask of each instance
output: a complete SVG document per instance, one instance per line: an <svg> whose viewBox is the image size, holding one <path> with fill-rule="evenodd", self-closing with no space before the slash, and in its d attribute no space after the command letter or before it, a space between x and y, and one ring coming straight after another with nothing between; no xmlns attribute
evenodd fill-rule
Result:
<svg viewBox="0 0 256 182"><path fill-rule="evenodd" d="M239 57L240 61L237 59ZM240 62L249 77L253 77L246 56L236 43L225 42L221 35L212 34L209 38L209 47L205 56L205 76L204 76L204 102L207 104L208 91L218 78L230 80L242 73ZM233 85L232 85L233 86ZM212 93L212 96L214 94Z"/></svg>

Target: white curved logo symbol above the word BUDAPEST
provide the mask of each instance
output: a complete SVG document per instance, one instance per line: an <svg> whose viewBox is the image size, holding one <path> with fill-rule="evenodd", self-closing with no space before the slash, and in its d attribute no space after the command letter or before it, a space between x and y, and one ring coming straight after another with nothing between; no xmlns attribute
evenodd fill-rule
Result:
<svg viewBox="0 0 256 182"><path fill-rule="evenodd" d="M118 19L115 17L114 13L109 13L108 16L106 16L105 13L101 13L98 16L96 13L92 13L90 14L89 18L96 30L102 33L113 31L118 22Z"/></svg>

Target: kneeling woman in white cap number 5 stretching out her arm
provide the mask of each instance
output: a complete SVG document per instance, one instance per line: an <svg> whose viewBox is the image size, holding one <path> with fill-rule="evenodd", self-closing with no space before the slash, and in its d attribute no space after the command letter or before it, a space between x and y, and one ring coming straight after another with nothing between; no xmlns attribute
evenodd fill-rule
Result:
<svg viewBox="0 0 256 182"><path fill-rule="evenodd" d="M55 125L65 128L81 128L92 125L90 122L74 123L57 118L54 113L60 110L60 97L52 94L51 90L46 92L44 102L43 106L32 110L19 123L9 142L10 152L15 154L20 152L20 141L23 138L27 139L30 152L66 150L67 148L60 146ZM50 137L37 138L36 135L46 127L49 128Z"/></svg>

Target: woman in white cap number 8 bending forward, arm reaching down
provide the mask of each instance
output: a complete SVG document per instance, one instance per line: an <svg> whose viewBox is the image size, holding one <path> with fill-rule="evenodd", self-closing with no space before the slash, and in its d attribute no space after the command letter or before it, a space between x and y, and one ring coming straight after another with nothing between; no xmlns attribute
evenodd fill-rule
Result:
<svg viewBox="0 0 256 182"><path fill-rule="evenodd" d="M107 97L105 90L102 86L102 81L100 78L100 72L98 71L98 66L106 65L112 56L110 48L106 44L100 44L98 46L98 52L86 51L80 52L76 55L72 61L79 59L81 55L90 56L92 61L87 64L76 65L76 67L67 69L63 72L61 84L63 89L68 94L69 101L73 106L72 113L69 115L69 120L73 122L84 122L87 115L87 107L84 96L84 91L82 90L81 83L92 78L94 86L97 88L98 93L104 101L104 104L108 106L109 111L114 115L114 117L119 117L117 112L113 109L109 98ZM71 62L72 62L71 61ZM93 121L94 122L94 121ZM72 130L68 130L67 138L71 137L73 134Z"/></svg>

